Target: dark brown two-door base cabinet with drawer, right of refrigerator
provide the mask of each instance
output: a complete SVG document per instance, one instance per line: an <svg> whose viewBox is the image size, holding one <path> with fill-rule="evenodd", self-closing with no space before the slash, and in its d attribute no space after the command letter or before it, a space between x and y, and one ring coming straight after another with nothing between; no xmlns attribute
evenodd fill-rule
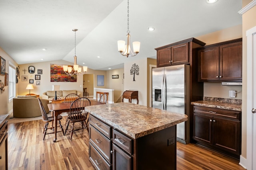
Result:
<svg viewBox="0 0 256 170"><path fill-rule="evenodd" d="M239 159L241 111L193 106L194 143Z"/></svg>

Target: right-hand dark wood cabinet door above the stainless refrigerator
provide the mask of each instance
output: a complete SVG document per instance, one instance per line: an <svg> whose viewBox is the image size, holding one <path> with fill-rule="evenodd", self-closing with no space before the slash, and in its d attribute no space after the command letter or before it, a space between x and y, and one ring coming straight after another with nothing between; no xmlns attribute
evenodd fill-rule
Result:
<svg viewBox="0 0 256 170"><path fill-rule="evenodd" d="M171 58L172 65L189 63L188 43L173 46Z"/></svg>

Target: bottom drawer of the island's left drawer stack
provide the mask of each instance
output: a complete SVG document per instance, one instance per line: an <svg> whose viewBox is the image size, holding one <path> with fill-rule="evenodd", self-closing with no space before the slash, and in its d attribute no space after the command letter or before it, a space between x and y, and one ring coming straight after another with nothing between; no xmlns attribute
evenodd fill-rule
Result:
<svg viewBox="0 0 256 170"><path fill-rule="evenodd" d="M89 142L89 159L98 170L110 170L110 164L100 155L100 153Z"/></svg>

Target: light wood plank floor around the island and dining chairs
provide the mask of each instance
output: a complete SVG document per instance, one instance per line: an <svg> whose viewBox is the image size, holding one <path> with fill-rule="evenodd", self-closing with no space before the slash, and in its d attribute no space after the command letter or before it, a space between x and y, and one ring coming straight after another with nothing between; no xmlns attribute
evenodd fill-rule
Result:
<svg viewBox="0 0 256 170"><path fill-rule="evenodd" d="M62 125L66 117L62 119ZM78 124L79 125L79 124ZM9 170L94 170L88 158L88 132L46 135L41 120L8 124ZM194 144L177 143L177 170L244 170L239 161Z"/></svg>

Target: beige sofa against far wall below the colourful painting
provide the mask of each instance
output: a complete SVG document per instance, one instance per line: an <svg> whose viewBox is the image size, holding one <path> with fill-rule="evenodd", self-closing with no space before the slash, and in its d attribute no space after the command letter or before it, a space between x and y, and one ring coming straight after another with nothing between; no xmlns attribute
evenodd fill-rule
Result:
<svg viewBox="0 0 256 170"><path fill-rule="evenodd" d="M80 96L80 94L81 94L77 90L59 90L59 91L56 91L57 98L61 98L61 99L64 99L65 96L67 96L68 94L71 94L71 93L77 94L78 96ZM46 91L42 94L43 99L52 100L54 97L55 97L55 91Z"/></svg>

